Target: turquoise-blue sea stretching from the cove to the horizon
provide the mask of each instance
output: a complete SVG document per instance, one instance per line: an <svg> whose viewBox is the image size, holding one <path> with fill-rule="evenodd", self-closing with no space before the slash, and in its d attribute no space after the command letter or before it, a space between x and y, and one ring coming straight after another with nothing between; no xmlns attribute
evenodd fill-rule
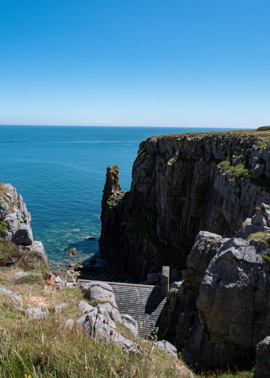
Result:
<svg viewBox="0 0 270 378"><path fill-rule="evenodd" d="M129 190L141 140L211 130L221 129L0 126L0 181L22 195L34 239L42 241L49 259L68 262L65 250L70 247L76 247L76 259L84 259L98 253L106 167L116 164L122 190Z"/></svg>

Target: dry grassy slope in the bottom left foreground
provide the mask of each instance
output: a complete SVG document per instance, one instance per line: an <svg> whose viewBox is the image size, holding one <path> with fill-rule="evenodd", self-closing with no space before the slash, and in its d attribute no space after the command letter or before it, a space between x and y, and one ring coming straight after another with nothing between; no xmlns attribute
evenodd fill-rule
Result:
<svg viewBox="0 0 270 378"><path fill-rule="evenodd" d="M60 314L51 312L46 320L34 320L13 310L8 298L2 298L0 306L1 377L21 378L24 374L30 374L31 378L187 376L182 362L173 361L159 349L152 350L151 343L142 343L143 356L139 356L122 353L102 339L86 337L78 326L62 328L70 316L68 309Z"/></svg>

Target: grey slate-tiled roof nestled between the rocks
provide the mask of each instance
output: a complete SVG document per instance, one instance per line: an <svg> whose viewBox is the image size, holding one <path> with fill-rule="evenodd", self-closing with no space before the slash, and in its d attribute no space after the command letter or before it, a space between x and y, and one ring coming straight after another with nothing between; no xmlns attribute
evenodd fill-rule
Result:
<svg viewBox="0 0 270 378"><path fill-rule="evenodd" d="M78 282L90 282L90 280L79 279ZM150 334L153 327L159 326L160 313L166 301L166 296L161 295L161 286L106 283L112 288L119 312L126 313L137 321L140 336L146 332Z"/></svg>

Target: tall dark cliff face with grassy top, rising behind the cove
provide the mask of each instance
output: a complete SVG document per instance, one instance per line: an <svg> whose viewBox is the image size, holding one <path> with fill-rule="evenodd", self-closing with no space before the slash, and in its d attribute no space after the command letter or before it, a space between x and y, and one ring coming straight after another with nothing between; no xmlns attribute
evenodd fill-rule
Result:
<svg viewBox="0 0 270 378"><path fill-rule="evenodd" d="M184 267L199 230L232 236L256 205L270 203L268 137L267 131L231 131L142 141L128 197L110 199L108 208L104 190L101 250L110 249L113 235L121 269L142 281L162 264ZM113 224L106 220L112 212Z"/></svg>

